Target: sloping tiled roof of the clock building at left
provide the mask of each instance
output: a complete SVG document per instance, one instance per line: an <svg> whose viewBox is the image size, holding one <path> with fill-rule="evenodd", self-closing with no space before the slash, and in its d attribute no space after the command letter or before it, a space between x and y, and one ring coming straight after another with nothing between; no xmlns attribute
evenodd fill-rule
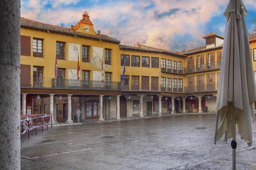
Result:
<svg viewBox="0 0 256 170"><path fill-rule="evenodd" d="M119 40L116 40L116 39L109 37L107 35L104 35L104 34L100 34L100 36L85 34L85 33L81 33L81 32L76 32L76 31L72 30L71 28L45 24L45 23L41 23L38 21L30 20L27 18L23 18L23 17L20 17L20 27L34 28L34 29L40 29L40 30L50 31L50 32L58 32L58 33L69 34L69 35L73 35L73 36L76 35L77 37L84 37L84 38L89 38L89 39L94 39L94 40L104 40L107 42L114 42L114 43L118 43L118 44L120 43Z"/></svg>

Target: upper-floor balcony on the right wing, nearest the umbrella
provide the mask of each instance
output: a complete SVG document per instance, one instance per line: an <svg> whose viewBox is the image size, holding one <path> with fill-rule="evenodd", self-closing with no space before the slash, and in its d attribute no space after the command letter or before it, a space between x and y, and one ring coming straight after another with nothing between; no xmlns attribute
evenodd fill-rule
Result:
<svg viewBox="0 0 256 170"><path fill-rule="evenodd" d="M188 73L195 73L195 72L201 72L201 71L209 71L209 70L216 70L221 68L221 62L211 62L208 64L201 64L201 65L192 65L189 67L186 67L184 69L185 74Z"/></svg>

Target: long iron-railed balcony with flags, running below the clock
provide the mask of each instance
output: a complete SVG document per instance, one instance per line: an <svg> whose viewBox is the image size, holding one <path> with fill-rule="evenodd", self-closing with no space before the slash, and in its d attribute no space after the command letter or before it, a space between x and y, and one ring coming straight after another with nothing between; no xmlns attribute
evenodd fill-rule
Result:
<svg viewBox="0 0 256 170"><path fill-rule="evenodd" d="M20 88L67 89L67 90L95 90L95 91L148 91L148 92L178 92L185 93L185 88L166 88L156 84L103 82L79 79L55 79L20 77Z"/></svg>

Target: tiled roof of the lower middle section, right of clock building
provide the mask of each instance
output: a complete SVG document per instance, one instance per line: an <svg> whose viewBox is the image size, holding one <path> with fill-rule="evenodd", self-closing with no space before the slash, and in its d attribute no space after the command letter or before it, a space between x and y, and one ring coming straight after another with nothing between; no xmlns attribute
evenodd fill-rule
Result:
<svg viewBox="0 0 256 170"><path fill-rule="evenodd" d="M175 51L163 50L160 48L154 48L154 47L149 47L149 46L145 46L145 45L138 45L136 47L129 46L129 45L119 45L119 49L120 50L128 50L128 51L142 51L142 52L149 52L149 53L167 54L167 55L181 57L181 58L186 57L185 55L180 54Z"/></svg>

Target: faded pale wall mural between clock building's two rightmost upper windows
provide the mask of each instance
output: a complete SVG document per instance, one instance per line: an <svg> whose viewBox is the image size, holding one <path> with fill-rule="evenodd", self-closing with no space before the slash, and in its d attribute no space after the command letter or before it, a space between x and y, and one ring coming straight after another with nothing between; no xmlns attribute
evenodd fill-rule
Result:
<svg viewBox="0 0 256 170"><path fill-rule="evenodd" d="M93 57L90 60L90 65L93 65L94 67L101 69L102 56L103 56L103 48L93 47ZM105 65L105 63L103 62L103 69L108 70L109 68L110 68L110 65Z"/></svg>

